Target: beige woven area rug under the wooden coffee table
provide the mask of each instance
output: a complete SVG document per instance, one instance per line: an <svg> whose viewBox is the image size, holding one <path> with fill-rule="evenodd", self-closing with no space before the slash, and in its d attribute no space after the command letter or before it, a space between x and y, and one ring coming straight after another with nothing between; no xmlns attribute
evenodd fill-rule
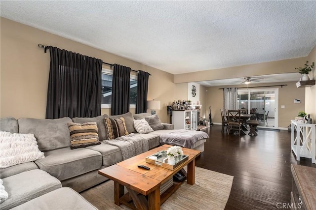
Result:
<svg viewBox="0 0 316 210"><path fill-rule="evenodd" d="M183 183L161 206L161 210L223 210L234 177L196 167L195 184ZM114 183L109 180L80 194L99 210L128 210L114 204Z"/></svg>

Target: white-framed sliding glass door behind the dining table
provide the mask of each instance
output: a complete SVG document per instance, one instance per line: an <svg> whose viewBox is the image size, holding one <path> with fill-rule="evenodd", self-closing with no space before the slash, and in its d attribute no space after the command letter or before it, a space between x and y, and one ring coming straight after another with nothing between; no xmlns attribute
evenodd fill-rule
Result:
<svg viewBox="0 0 316 210"><path fill-rule="evenodd" d="M238 90L237 106L244 109L252 118L259 121L259 126L278 127L278 89Z"/></svg>

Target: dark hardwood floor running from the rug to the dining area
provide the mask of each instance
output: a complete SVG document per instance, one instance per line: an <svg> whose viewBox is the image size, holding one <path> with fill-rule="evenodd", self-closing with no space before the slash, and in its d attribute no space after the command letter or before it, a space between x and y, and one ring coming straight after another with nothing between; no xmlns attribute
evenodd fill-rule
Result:
<svg viewBox="0 0 316 210"><path fill-rule="evenodd" d="M296 161L291 133L285 130L259 130L258 136L240 138L221 133L221 125L203 131L209 139L196 166L234 176L227 210L271 210L277 203L290 203L291 164L316 167L309 158Z"/></svg>

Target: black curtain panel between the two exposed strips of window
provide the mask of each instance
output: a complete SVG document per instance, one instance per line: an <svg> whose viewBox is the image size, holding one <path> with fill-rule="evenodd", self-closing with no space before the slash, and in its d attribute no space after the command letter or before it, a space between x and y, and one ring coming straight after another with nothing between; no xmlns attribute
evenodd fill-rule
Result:
<svg viewBox="0 0 316 210"><path fill-rule="evenodd" d="M111 115L129 112L130 68L114 64L112 80Z"/></svg>

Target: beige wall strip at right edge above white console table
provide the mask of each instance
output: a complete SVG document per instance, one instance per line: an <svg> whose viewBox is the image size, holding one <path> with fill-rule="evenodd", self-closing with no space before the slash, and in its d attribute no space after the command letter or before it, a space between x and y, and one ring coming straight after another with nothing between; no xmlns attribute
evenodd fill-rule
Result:
<svg viewBox="0 0 316 210"><path fill-rule="evenodd" d="M310 62L316 62L316 46L313 48L311 53L308 55L307 60ZM309 77L312 80L316 79L316 70L314 69L309 73ZM316 85L305 88L305 112L311 115L313 123L316 123Z"/></svg>

